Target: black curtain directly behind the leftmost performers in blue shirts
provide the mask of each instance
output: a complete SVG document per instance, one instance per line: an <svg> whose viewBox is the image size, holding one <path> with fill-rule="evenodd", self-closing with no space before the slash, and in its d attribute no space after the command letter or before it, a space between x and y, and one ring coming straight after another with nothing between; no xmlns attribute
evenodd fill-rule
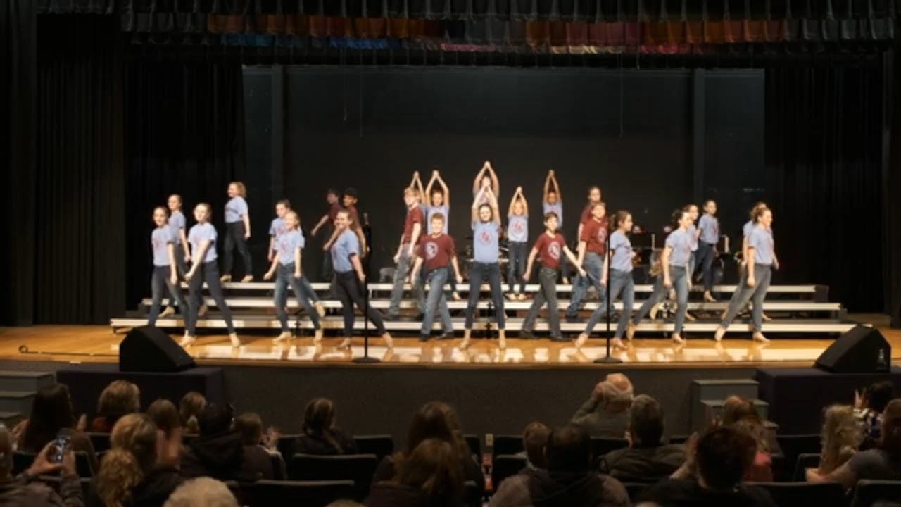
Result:
<svg viewBox="0 0 901 507"><path fill-rule="evenodd" d="M210 203L223 237L225 190L244 177L244 106L237 63L141 60L127 63L124 76L127 295L134 308L150 293L150 215L169 194L182 196L188 227L196 203ZM266 234L253 232L258 241Z"/></svg>

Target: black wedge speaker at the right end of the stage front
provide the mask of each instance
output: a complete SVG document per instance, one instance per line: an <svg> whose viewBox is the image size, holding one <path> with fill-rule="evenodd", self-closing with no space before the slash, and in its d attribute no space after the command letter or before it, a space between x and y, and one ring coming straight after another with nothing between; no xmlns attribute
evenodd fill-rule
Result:
<svg viewBox="0 0 901 507"><path fill-rule="evenodd" d="M816 360L833 373L880 373L891 369L892 347L876 327L855 326L839 336Z"/></svg>

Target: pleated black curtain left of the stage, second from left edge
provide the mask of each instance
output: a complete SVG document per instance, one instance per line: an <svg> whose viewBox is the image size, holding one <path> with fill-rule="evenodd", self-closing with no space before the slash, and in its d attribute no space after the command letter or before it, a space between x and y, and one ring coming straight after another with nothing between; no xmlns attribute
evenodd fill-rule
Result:
<svg viewBox="0 0 901 507"><path fill-rule="evenodd" d="M118 30L93 14L38 22L38 323L104 324L125 309Z"/></svg>

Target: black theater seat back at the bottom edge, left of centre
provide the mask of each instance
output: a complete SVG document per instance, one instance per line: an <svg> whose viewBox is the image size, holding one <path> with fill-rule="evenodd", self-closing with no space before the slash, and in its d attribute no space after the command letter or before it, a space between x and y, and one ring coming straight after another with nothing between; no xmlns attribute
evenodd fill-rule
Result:
<svg viewBox="0 0 901 507"><path fill-rule="evenodd" d="M257 481L243 493L250 507L326 507L356 497L353 481Z"/></svg>

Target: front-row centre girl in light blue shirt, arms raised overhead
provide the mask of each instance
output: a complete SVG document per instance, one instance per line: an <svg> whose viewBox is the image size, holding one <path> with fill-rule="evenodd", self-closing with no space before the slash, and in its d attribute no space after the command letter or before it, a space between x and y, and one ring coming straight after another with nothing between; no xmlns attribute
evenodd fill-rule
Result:
<svg viewBox="0 0 901 507"><path fill-rule="evenodd" d="M491 182L485 180L484 185L472 201L473 262L472 268L469 270L469 305L466 308L466 327L463 330L463 341L460 342L460 348L469 346L472 313L476 311L478 305L478 292L482 280L487 277L497 317L498 346L504 349L506 348L504 293L501 289L501 266L498 262L497 244L501 219L497 211L497 198L494 190L491 189Z"/></svg>

